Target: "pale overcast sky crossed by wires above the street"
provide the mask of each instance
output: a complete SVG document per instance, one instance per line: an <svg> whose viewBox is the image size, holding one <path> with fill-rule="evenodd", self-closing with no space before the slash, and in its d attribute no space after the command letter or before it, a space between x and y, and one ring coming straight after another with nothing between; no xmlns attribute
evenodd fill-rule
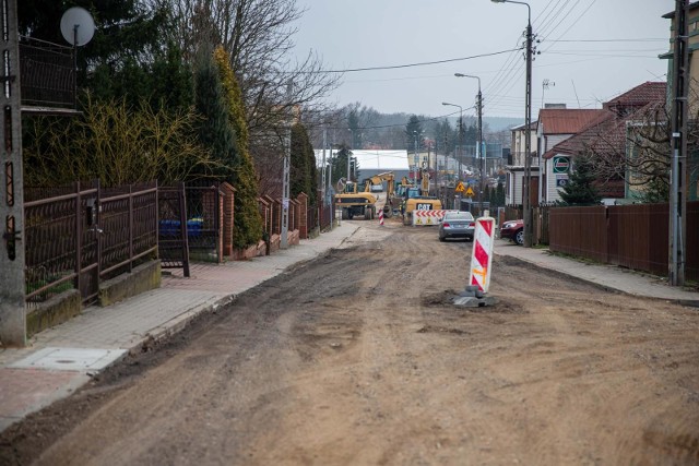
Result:
<svg viewBox="0 0 699 466"><path fill-rule="evenodd" d="M317 52L330 70L440 64L347 72L331 97L381 112L441 116L475 103L481 77L484 115L524 115L522 44L526 7L489 0L297 0L298 56ZM599 108L647 81L665 81L673 0L530 0L541 40L533 65L533 118L542 104ZM490 57L467 57L494 53ZM555 85L543 88L544 80Z"/></svg>

